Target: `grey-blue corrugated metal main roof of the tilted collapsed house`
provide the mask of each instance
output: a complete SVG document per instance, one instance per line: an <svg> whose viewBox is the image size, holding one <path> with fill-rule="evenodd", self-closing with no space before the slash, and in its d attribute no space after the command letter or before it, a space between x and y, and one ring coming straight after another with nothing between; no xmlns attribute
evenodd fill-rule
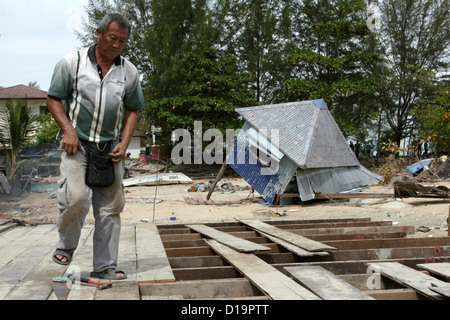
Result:
<svg viewBox="0 0 450 320"><path fill-rule="evenodd" d="M359 165L323 100L240 108L236 112L257 130L279 130L279 143L274 145L302 169Z"/></svg>

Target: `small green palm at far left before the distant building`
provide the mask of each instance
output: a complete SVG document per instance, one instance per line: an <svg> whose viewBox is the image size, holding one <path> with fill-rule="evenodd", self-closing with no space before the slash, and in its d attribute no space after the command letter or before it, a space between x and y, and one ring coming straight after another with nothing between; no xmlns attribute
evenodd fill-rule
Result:
<svg viewBox="0 0 450 320"><path fill-rule="evenodd" d="M15 180L19 166L20 151L36 133L37 116L33 115L26 102L8 100L6 110L0 112L0 146L7 158L7 178Z"/></svg>

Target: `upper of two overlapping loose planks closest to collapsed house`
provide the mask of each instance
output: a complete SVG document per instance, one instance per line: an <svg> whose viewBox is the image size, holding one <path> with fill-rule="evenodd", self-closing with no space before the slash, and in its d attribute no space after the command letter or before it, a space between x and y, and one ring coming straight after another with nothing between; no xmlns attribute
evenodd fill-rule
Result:
<svg viewBox="0 0 450 320"><path fill-rule="evenodd" d="M286 242L289 242L293 245L296 245L302 249L307 251L334 251L336 248L328 246L326 244L322 244L320 242L305 238L298 234L282 230L275 226L271 226L267 223L264 223L259 220L240 220L243 224L249 226L252 229L256 229L258 231L262 231L276 238L280 238Z"/></svg>

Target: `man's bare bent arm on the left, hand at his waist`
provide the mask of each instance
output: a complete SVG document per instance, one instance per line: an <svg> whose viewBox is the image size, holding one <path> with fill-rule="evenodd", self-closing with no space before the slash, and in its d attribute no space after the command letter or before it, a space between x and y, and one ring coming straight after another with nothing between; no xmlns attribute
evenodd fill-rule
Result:
<svg viewBox="0 0 450 320"><path fill-rule="evenodd" d="M47 96L47 108L64 132L61 148L68 154L77 153L78 150L81 150L80 140L78 139L75 128L67 118L61 100L55 97Z"/></svg>

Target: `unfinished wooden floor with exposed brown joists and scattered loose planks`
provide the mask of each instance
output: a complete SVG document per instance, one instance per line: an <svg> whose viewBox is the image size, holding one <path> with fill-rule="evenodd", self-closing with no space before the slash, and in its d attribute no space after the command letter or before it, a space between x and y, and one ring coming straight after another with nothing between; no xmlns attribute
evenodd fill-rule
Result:
<svg viewBox="0 0 450 320"><path fill-rule="evenodd" d="M123 225L119 268L128 279L106 290L80 286L68 299L448 297L450 237L408 238L413 227L368 218L266 221L264 231L256 231L261 225L253 222ZM287 237L286 231L320 246L300 248L303 241ZM5 229L0 233L0 299L57 299L53 277L91 270L92 234L92 226L83 229L74 259L65 267L51 260L55 225Z"/></svg>

